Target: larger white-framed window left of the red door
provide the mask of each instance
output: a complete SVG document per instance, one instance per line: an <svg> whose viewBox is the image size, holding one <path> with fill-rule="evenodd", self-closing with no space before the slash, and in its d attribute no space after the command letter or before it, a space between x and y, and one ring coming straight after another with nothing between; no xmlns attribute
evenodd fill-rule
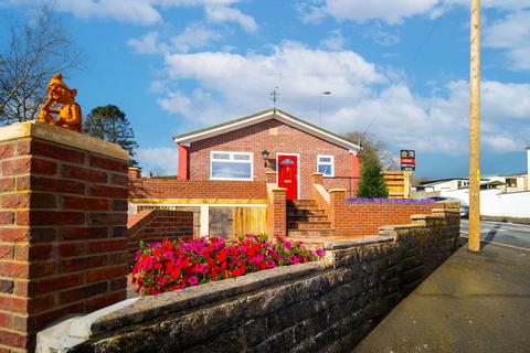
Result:
<svg viewBox="0 0 530 353"><path fill-rule="evenodd" d="M254 165L251 152L210 153L210 179L212 180L253 180Z"/></svg>

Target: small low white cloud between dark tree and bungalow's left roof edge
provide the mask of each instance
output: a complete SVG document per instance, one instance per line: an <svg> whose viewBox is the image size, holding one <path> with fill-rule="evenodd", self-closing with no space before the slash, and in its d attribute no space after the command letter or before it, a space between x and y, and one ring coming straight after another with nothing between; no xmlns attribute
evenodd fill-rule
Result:
<svg viewBox="0 0 530 353"><path fill-rule="evenodd" d="M158 147L138 149L138 161L145 174L176 174L179 153L176 148Z"/></svg>

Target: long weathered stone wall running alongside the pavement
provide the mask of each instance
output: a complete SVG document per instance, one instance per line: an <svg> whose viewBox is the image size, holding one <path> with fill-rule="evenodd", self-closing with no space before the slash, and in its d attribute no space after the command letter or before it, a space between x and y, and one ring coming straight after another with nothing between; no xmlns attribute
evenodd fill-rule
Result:
<svg viewBox="0 0 530 353"><path fill-rule="evenodd" d="M40 352L350 352L456 250L457 212L449 205L409 225L385 226L370 240L326 244L324 261L145 297L65 321L40 333ZM59 339L50 340L54 334Z"/></svg>

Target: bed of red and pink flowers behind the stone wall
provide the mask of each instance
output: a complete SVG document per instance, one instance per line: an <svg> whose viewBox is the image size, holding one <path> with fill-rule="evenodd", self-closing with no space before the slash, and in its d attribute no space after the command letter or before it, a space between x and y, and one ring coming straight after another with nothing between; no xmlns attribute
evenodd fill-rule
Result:
<svg viewBox="0 0 530 353"><path fill-rule="evenodd" d="M132 282L142 296L182 289L213 280L233 278L277 266L314 261L324 249L306 249L301 242L277 237L275 243L246 235L236 240L201 237L140 243Z"/></svg>

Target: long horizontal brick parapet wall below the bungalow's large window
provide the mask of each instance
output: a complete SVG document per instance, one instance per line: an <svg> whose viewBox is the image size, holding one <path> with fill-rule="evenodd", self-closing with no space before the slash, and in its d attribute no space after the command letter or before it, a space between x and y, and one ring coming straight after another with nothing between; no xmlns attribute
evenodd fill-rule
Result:
<svg viewBox="0 0 530 353"><path fill-rule="evenodd" d="M265 182L131 178L129 199L267 199Z"/></svg>

